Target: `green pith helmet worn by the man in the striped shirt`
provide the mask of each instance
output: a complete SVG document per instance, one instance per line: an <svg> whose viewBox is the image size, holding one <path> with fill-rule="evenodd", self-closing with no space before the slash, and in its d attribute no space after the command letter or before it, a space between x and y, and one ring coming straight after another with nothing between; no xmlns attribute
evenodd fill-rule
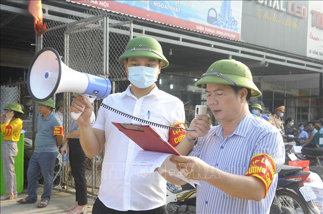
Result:
<svg viewBox="0 0 323 214"><path fill-rule="evenodd" d="M252 97L261 96L261 92L253 82L249 68L242 62L235 60L219 60L211 64L195 86L205 84L224 84L240 86L251 90Z"/></svg>

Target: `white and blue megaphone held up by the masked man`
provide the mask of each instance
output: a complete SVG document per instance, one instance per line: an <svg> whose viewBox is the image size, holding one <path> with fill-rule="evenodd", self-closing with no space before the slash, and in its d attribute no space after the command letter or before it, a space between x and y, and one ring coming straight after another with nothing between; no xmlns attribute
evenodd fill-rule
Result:
<svg viewBox="0 0 323 214"><path fill-rule="evenodd" d="M55 93L74 92L89 95L86 98L93 102L96 97L105 98L111 92L109 79L81 73L69 68L61 61L57 51L45 47L37 52L30 63L27 88L36 101L45 101ZM72 112L77 120L81 113Z"/></svg>

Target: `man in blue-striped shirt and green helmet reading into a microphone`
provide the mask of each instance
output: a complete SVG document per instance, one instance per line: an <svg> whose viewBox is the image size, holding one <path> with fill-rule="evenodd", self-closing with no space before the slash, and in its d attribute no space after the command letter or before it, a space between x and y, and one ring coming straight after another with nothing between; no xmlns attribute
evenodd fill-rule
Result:
<svg viewBox="0 0 323 214"><path fill-rule="evenodd" d="M285 148L279 131L248 110L249 98L261 96L249 68L235 60L216 61L196 85L206 85L208 107L220 125L198 138L189 156L172 155L170 161L200 181L197 213L269 213Z"/></svg>

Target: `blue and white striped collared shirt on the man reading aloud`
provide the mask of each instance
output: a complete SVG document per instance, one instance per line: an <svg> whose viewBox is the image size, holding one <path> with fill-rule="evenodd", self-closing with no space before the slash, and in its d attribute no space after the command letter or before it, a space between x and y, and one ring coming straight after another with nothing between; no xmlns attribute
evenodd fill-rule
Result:
<svg viewBox="0 0 323 214"><path fill-rule="evenodd" d="M215 186L200 181L197 187L197 214L269 213L277 186L278 171L285 161L285 147L278 129L271 123L251 113L240 121L232 135L223 140L223 128L215 126L203 137L189 154L222 171L245 175L251 158L260 153L272 156L276 172L267 197L260 201L235 198ZM239 182L239 181L237 181Z"/></svg>

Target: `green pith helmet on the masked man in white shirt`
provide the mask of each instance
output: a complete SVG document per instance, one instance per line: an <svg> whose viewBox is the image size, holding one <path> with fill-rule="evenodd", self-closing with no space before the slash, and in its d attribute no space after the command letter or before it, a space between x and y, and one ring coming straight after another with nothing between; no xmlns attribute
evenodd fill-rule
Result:
<svg viewBox="0 0 323 214"><path fill-rule="evenodd" d="M163 55L159 42L148 36L138 36L130 40L125 51L119 57L119 62L123 63L129 57L155 58L162 61L162 68L166 68L170 64Z"/></svg>

